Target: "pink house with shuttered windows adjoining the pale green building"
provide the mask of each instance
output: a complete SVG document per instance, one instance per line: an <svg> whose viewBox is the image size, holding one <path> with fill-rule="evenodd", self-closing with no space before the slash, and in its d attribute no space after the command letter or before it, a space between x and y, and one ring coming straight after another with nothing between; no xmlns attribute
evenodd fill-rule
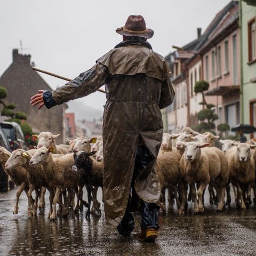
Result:
<svg viewBox="0 0 256 256"><path fill-rule="evenodd" d="M217 124L228 123L231 127L239 121L239 30L238 4L235 4L215 27L203 47L204 80L209 82L207 103L215 106L219 115Z"/></svg>

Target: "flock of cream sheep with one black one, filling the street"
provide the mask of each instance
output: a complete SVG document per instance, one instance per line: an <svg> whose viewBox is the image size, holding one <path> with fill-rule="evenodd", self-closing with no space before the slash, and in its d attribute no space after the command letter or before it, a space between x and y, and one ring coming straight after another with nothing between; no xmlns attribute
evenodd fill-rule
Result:
<svg viewBox="0 0 256 256"><path fill-rule="evenodd" d="M102 137L75 137L69 140L69 145L56 145L58 135L51 132L41 132L37 137L35 149L17 149L10 153L0 148L1 165L15 185L20 186L13 214L18 213L19 197L24 190L28 214L36 215L37 207L45 206L46 189L50 194L50 220L57 215L68 215L71 209L78 212L83 206L87 207L86 218L91 213L101 214L97 191L103 185ZM180 214L186 212L188 201L194 202L194 213L204 212L207 186L210 204L218 204L217 211L222 211L225 203L230 205L230 185L238 208L246 209L252 203L251 191L254 198L256 195L256 145L220 140L220 150L214 147L214 140L218 139L210 132L199 134L189 127L184 127L179 134L163 134L155 166L163 191L160 199L163 211L167 190L169 205L176 203ZM83 199L84 186L88 202Z"/></svg>

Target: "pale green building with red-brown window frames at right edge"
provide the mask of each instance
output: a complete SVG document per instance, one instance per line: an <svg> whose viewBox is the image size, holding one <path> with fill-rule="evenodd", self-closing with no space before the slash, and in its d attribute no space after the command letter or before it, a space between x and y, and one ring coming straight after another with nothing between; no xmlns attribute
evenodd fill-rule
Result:
<svg viewBox="0 0 256 256"><path fill-rule="evenodd" d="M241 123L256 127L256 0L239 1L239 25L241 28ZM254 133L255 137L256 133Z"/></svg>

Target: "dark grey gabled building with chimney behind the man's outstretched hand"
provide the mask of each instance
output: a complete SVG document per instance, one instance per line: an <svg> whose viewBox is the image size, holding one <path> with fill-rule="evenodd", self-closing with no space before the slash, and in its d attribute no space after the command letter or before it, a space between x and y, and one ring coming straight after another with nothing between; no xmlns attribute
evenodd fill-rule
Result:
<svg viewBox="0 0 256 256"><path fill-rule="evenodd" d="M38 90L52 90L51 87L34 71L30 65L30 55L19 54L18 49L12 52L12 63L0 78L0 85L7 89L6 102L13 102L15 110L27 114L27 122L34 132L51 131L60 133L57 143L66 142L66 104L52 109L31 107L30 98Z"/></svg>

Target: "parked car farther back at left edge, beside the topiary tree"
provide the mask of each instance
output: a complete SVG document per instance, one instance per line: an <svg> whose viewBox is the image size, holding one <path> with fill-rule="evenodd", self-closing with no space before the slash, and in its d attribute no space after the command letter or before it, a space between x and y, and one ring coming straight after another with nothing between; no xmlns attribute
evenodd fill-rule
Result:
<svg viewBox="0 0 256 256"><path fill-rule="evenodd" d="M18 148L26 149L25 138L19 124L14 122L0 122L0 126L8 138L11 150Z"/></svg>

